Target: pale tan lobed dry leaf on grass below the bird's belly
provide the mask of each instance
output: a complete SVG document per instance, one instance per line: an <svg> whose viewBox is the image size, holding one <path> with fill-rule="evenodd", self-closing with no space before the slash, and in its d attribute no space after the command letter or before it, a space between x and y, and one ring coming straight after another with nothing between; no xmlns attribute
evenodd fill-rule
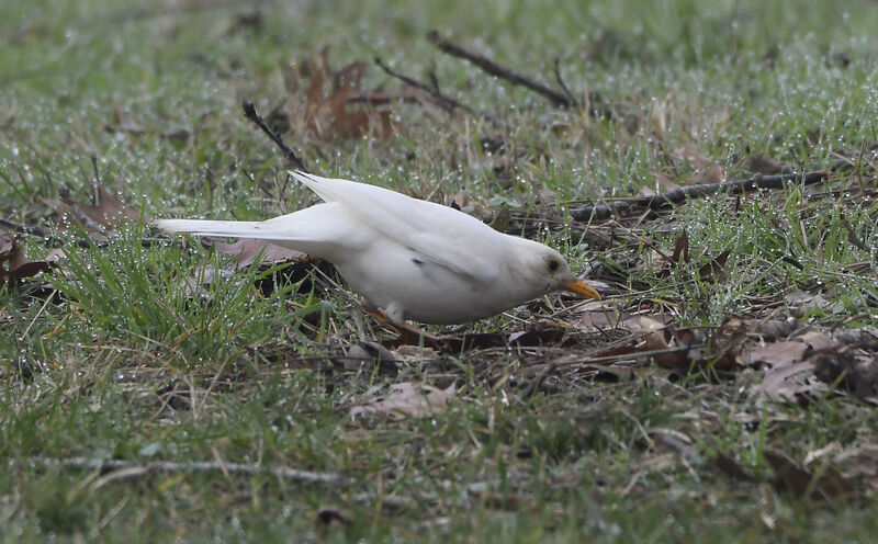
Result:
<svg viewBox="0 0 878 544"><path fill-rule="evenodd" d="M403 382L391 385L386 395L369 398L360 406L351 408L350 416L384 413L393 419L425 418L443 412L455 394L455 384L439 389L431 385Z"/></svg>

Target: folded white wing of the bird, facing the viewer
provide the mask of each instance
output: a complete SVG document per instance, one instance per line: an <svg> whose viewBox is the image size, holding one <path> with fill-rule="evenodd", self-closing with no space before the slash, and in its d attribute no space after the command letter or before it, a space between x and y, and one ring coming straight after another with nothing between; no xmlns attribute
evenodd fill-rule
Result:
<svg viewBox="0 0 878 544"><path fill-rule="evenodd" d="M290 172L326 202L338 202L373 228L430 261L476 280L497 276L504 237L441 204L354 181Z"/></svg>

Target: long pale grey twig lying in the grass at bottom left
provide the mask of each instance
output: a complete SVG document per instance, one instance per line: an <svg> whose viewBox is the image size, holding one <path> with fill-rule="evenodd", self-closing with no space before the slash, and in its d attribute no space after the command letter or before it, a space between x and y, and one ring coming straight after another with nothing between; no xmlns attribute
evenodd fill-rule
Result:
<svg viewBox="0 0 878 544"><path fill-rule="evenodd" d="M19 464L16 460L8 460L8 466ZM357 480L354 478L342 476L336 473L318 473L314 471L301 471L299 468L268 467L255 464L244 463L218 463L212 461L191 461L177 463L173 461L150 461L148 463L137 463L135 461L126 460L101 460L89 457L27 457L22 462L30 466L40 467L69 467L80 468L87 471L101 471L109 473L114 471L125 471L132 476L139 476L143 474L166 472L166 473L224 473L224 474L271 474L279 479L288 479L299 481L302 484L327 484L327 485L352 485Z"/></svg>

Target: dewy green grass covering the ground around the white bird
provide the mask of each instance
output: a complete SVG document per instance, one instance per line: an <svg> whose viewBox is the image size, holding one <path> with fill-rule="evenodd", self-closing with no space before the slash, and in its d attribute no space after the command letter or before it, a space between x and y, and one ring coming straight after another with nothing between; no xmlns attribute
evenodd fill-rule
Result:
<svg viewBox="0 0 878 544"><path fill-rule="evenodd" d="M249 100L264 114L280 106L292 125L284 137L317 172L509 206L511 228L558 247L576 270L595 264L621 293L614 310L665 313L707 332L732 317L791 314L874 326L871 2L300 4L0 4L0 216L58 229L52 200L69 189L88 202L91 157L102 183L144 217L255 219L308 205L314 197L285 181L286 165L241 115ZM254 12L258 25L240 22ZM558 57L569 87L599 94L611 116L552 109L442 55L424 37L431 29L551 83ZM403 131L389 140L308 134L308 79L295 73L324 46L334 67L379 56L419 79L434 71L443 92L509 128L407 103L391 106ZM363 87L378 86L398 89L370 65ZM188 137L166 136L177 131ZM484 138L502 138L505 150L483 148ZM654 189L656 172L683 182L695 170L684 146L730 179L751 175L753 154L804 170L844 157L854 168L825 184L714 196L656 218L588 229L559 220L583 202ZM498 175L499 158L511 169ZM656 250L673 252L684 228L690 262L660 274ZM60 235L85 236L69 233ZM358 317L367 339L391 333L333 279L269 292L260 280L282 271L251 269L202 285L230 260L194 243L144 245L143 222L119 234L70 243L52 274L0 288L3 542L869 542L878 531L868 477L857 479L859 498L830 503L767 483L767 451L801 462L828 449L809 465L817 471L878 441L875 410L851 395L759 404L761 371L680 375L649 362L630 378L597 379L575 360L609 342L600 335L573 350L402 351L395 377L351 370L339 356L358 342ZM55 247L20 239L33 259ZM724 250L725 276L700 280ZM36 291L49 284L59 294ZM797 314L796 294L826 303ZM520 331L559 309L553 301L454 333ZM553 361L558 371L524 398ZM455 382L460 393L431 418L349 416L405 381ZM718 453L761 481L727 476ZM35 462L76 457L291 467L353 483ZM327 507L346 511L344 526L318 523Z"/></svg>

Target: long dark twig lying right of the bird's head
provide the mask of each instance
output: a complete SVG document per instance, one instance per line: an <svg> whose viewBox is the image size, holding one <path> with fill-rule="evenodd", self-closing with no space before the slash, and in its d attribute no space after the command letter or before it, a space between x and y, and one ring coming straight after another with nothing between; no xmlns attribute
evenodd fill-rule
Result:
<svg viewBox="0 0 878 544"><path fill-rule="evenodd" d="M758 175L746 180L722 181L719 183L705 183L674 189L666 193L652 196L639 196L610 202L599 206L584 206L571 211L571 217L576 220L606 219L615 213L624 209L667 209L675 204L690 200L703 199L719 192L730 194L746 193L761 189L784 189L788 184L801 183L812 185L830 177L831 170L818 170L806 173L788 173L781 175Z"/></svg>

